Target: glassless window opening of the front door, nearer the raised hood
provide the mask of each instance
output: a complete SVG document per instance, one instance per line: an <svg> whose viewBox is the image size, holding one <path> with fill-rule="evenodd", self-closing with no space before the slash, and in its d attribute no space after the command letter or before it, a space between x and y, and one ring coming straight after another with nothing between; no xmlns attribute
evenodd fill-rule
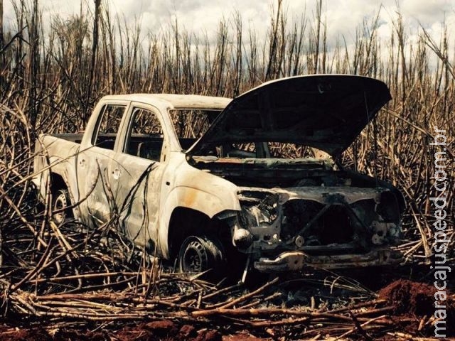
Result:
<svg viewBox="0 0 455 341"><path fill-rule="evenodd" d="M156 114L134 108L124 153L159 162L163 142L163 129Z"/></svg>

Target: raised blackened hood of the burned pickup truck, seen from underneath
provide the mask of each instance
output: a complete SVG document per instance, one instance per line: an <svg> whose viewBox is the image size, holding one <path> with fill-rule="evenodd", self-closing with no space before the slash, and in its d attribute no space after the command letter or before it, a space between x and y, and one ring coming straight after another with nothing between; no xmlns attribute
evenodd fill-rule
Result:
<svg viewBox="0 0 455 341"><path fill-rule="evenodd" d="M266 82L232 99L188 153L249 141L289 142L333 157L391 99L383 82L353 75L307 75Z"/></svg>

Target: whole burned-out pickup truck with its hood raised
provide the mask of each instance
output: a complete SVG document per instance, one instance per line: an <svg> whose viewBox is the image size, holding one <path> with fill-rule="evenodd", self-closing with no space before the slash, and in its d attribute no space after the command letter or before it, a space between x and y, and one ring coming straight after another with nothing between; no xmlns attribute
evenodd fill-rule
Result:
<svg viewBox="0 0 455 341"><path fill-rule="evenodd" d="M341 153L390 100L353 75L288 77L235 99L103 97L84 134L40 136L53 220L121 233L181 271L394 264L405 202ZM224 266L228 264L228 266Z"/></svg>

